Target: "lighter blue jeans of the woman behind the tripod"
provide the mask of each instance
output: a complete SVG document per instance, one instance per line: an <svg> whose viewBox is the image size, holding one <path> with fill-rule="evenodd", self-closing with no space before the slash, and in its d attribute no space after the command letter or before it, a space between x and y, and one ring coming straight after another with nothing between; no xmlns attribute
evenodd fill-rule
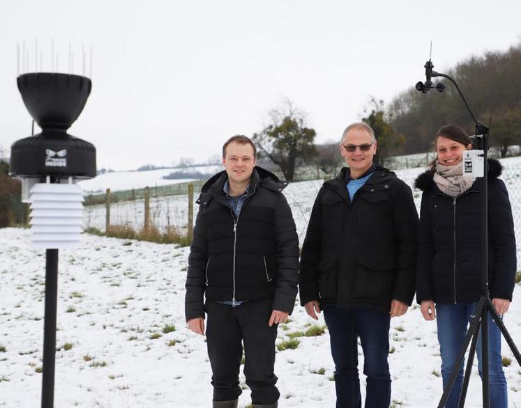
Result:
<svg viewBox="0 0 521 408"><path fill-rule="evenodd" d="M476 306L478 306L477 303L436 305L441 377L443 377L444 389L451 377L451 371L462 347L465 334L467 334L469 322L476 311ZM478 354L478 371L481 376L481 330L476 352ZM488 313L488 361L490 407L507 408L506 379L501 364L501 331L497 324L493 322L490 313ZM458 407L463 386L463 366L464 362L462 362L458 371L458 377L456 377L445 405L446 408Z"/></svg>

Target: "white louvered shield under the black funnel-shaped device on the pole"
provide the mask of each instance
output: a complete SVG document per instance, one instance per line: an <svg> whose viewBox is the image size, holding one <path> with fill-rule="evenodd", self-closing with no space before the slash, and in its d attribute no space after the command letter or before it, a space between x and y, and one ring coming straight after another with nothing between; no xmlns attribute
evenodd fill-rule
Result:
<svg viewBox="0 0 521 408"><path fill-rule="evenodd" d="M37 183L29 193L33 246L45 249L77 246L82 233L82 189L75 184Z"/></svg>

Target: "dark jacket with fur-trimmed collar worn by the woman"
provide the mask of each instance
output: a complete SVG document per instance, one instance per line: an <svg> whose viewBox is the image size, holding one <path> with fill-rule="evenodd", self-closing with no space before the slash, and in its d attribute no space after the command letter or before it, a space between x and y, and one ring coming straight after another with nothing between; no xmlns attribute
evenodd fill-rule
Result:
<svg viewBox="0 0 521 408"><path fill-rule="evenodd" d="M516 249L512 210L501 164L488 161L488 281L490 296L512 299ZM481 186L478 179L453 198L426 171L416 179L423 190L416 274L416 300L469 303L481 295Z"/></svg>

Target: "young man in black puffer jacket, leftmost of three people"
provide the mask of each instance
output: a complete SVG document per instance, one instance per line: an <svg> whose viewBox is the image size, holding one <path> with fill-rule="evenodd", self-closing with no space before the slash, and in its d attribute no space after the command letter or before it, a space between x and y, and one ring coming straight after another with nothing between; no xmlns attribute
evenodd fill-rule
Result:
<svg viewBox="0 0 521 408"><path fill-rule="evenodd" d="M299 239L281 192L287 183L255 166L256 152L246 136L230 138L222 148L225 171L206 182L197 200L185 314L198 334L208 315L213 407L237 407L242 343L252 407L274 408L280 396L275 339L295 303Z"/></svg>

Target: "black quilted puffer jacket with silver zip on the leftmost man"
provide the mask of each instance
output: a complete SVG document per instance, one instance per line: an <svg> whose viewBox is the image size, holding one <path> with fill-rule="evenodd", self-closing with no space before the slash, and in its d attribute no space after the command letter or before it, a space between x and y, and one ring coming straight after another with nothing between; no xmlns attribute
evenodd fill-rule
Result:
<svg viewBox="0 0 521 408"><path fill-rule="evenodd" d="M252 193L239 218L222 188L225 171L202 188L188 258L186 320L204 317L203 295L217 301L273 299L291 313L299 283L299 238L285 196L287 185L255 167Z"/></svg>

